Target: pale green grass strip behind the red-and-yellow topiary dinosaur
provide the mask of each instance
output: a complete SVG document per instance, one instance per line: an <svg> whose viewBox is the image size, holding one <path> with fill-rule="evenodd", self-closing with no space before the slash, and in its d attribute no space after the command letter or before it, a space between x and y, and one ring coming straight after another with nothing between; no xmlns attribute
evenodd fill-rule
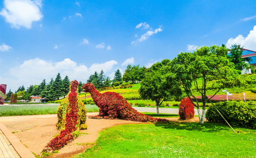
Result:
<svg viewBox="0 0 256 158"><path fill-rule="evenodd" d="M56 114L59 105L0 106L0 116ZM85 105L87 113L98 112L96 105Z"/></svg>

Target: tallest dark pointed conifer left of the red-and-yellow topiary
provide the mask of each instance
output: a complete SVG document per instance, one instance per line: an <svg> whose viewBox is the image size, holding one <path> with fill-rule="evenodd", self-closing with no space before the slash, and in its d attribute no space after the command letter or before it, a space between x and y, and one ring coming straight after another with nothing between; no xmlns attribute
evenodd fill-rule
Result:
<svg viewBox="0 0 256 158"><path fill-rule="evenodd" d="M63 87L60 73L57 74L57 76L53 82L52 88L53 88L54 99L56 99L56 98L59 99L60 97L64 96L64 93L63 93L64 87Z"/></svg>

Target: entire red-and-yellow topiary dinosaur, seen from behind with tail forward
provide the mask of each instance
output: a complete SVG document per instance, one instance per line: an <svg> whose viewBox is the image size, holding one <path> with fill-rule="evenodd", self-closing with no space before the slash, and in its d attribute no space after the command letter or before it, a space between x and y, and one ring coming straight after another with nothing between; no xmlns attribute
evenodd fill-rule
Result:
<svg viewBox="0 0 256 158"><path fill-rule="evenodd" d="M76 93L78 82L76 80L70 83L70 92L58 107L57 129L60 133L52 139L42 151L43 153L53 153L68 142L79 136L79 129L86 129L86 109L83 102Z"/></svg>

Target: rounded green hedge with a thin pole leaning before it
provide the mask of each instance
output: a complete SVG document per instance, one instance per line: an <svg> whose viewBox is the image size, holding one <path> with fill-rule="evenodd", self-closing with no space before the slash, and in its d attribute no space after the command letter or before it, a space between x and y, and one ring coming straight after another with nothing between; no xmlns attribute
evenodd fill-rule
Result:
<svg viewBox="0 0 256 158"><path fill-rule="evenodd" d="M215 106L224 113L224 118L231 125L256 128L256 101L225 101ZM210 122L224 122L213 106L207 110L206 119Z"/></svg>

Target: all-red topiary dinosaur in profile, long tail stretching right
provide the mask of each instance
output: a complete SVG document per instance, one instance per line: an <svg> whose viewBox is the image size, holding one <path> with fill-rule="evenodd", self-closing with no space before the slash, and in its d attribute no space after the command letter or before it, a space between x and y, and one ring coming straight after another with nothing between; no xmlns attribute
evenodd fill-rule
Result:
<svg viewBox="0 0 256 158"><path fill-rule="evenodd" d="M83 85L83 91L91 94L93 102L100 108L98 116L105 119L121 118L137 122L169 122L166 119L153 118L139 113L115 92L99 93L91 83Z"/></svg>

